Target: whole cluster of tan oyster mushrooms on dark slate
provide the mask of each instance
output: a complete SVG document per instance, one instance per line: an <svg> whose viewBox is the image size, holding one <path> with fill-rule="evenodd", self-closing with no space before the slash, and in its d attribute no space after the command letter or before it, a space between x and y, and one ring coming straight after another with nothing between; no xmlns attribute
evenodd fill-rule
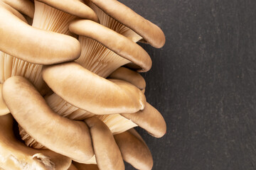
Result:
<svg viewBox="0 0 256 170"><path fill-rule="evenodd" d="M0 0L0 169L151 169L162 137L138 72L161 29L117 0Z"/></svg>

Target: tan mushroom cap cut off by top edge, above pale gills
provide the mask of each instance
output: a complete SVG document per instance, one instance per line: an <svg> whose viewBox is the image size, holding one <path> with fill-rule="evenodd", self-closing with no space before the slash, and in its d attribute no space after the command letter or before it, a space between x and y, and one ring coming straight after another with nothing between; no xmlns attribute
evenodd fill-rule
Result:
<svg viewBox="0 0 256 170"><path fill-rule="evenodd" d="M54 8L58 8L61 11L70 13L74 16L80 18L87 18L92 21L98 22L99 19L95 11L93 11L89 6L85 5L82 0L62 0L62 1L53 1L53 0L38 0Z"/></svg>

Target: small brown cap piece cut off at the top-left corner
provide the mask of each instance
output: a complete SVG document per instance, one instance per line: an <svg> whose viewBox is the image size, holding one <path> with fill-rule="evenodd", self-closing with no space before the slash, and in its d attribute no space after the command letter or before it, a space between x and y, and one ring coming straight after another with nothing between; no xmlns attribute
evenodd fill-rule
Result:
<svg viewBox="0 0 256 170"><path fill-rule="evenodd" d="M35 12L35 6L30 0L1 0L9 6L15 8L17 11L33 18Z"/></svg>

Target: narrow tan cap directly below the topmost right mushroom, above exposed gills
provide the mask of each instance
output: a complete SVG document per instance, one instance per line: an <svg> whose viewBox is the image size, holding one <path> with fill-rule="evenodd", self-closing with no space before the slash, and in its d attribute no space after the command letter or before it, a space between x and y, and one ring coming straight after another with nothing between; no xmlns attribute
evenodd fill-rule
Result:
<svg viewBox="0 0 256 170"><path fill-rule="evenodd" d="M88 38L92 38L109 48L117 55L124 57L139 67L139 72L147 72L152 61L149 54L137 43L129 40L114 30L90 20L77 20L70 23L70 31Z"/></svg>

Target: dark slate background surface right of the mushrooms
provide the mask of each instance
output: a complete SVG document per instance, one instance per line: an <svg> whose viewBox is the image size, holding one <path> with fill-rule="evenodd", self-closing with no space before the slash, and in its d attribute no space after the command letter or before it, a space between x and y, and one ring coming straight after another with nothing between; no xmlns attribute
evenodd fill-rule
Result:
<svg viewBox="0 0 256 170"><path fill-rule="evenodd" d="M256 1L120 0L164 30L146 97L167 123L139 133L154 170L256 169ZM127 165L127 169L133 169Z"/></svg>

